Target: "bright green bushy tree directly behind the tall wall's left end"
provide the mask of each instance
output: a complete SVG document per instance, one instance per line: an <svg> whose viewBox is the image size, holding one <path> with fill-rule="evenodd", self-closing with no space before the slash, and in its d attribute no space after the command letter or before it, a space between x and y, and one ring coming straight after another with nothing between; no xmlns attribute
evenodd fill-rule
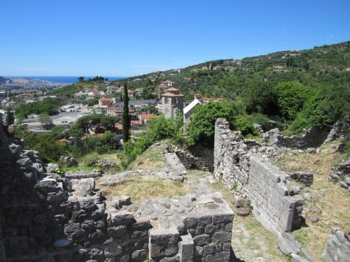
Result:
<svg viewBox="0 0 350 262"><path fill-rule="evenodd" d="M236 120L234 110L225 103L210 102L207 105L199 105L188 125L188 145L214 147L215 122L219 117L230 122L231 127Z"/></svg>

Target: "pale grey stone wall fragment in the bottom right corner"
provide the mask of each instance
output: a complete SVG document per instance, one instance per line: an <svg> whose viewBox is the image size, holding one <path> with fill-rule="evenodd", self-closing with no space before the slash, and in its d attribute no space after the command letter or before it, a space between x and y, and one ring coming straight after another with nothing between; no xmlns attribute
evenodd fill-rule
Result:
<svg viewBox="0 0 350 262"><path fill-rule="evenodd" d="M323 249L324 262L349 262L350 261L350 237L349 232L335 231L335 235L328 235L328 241Z"/></svg>

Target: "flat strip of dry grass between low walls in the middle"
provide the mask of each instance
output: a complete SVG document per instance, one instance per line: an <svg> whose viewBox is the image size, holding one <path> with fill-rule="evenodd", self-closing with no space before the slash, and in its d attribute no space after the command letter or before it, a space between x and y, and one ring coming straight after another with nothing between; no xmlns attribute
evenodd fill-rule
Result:
<svg viewBox="0 0 350 262"><path fill-rule="evenodd" d="M187 183L162 180L159 177L148 175L128 175L125 178L130 181L115 187L101 186L97 183L96 187L104 191L104 196L130 196L132 202L190 194Z"/></svg>

